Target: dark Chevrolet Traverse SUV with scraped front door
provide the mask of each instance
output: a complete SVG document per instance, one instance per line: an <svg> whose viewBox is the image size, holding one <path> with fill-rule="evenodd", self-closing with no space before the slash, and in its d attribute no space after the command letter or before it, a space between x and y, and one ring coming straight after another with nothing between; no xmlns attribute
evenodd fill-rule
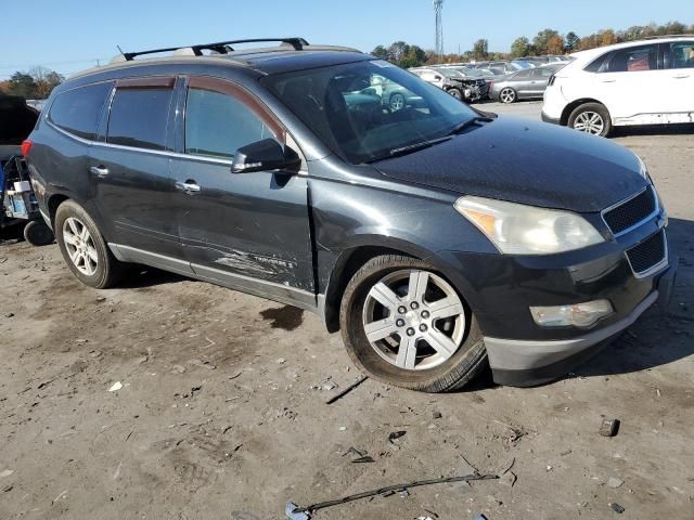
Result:
<svg viewBox="0 0 694 520"><path fill-rule="evenodd" d="M370 377L424 391L487 362L556 378L667 299L667 218L631 152L279 41L124 54L55 89L25 150L82 283L132 262L297 306ZM364 101L375 77L417 103Z"/></svg>

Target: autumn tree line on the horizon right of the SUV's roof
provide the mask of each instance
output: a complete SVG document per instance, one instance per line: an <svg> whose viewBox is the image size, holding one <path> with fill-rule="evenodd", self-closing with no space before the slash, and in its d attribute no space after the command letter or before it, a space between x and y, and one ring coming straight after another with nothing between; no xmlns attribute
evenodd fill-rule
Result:
<svg viewBox="0 0 694 520"><path fill-rule="evenodd" d="M489 51L489 42L480 38L473 48L462 54L445 54L437 56L432 50L396 41L389 47L377 46L372 54L387 60L396 65L409 68L425 64L455 63L481 60L511 60L514 57L542 56L548 54L568 54L596 47L612 46L622 41L633 41L652 36L694 34L694 24L685 25L681 22L669 22L664 25L655 23L634 25L624 30L601 29L592 35L579 36L574 31L562 35L558 30L547 28L540 30L532 39L520 36L511 44L509 52Z"/></svg>

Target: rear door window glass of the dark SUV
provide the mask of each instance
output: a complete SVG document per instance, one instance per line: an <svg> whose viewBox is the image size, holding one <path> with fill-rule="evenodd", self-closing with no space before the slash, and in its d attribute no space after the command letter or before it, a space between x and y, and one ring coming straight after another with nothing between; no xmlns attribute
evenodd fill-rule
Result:
<svg viewBox="0 0 694 520"><path fill-rule="evenodd" d="M169 88L116 90L106 141L125 146L164 150L172 93Z"/></svg>

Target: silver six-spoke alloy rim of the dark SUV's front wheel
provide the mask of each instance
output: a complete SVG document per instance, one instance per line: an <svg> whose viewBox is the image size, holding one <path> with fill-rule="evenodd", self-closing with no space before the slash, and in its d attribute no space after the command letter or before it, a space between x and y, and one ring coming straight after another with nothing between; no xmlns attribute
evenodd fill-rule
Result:
<svg viewBox="0 0 694 520"><path fill-rule="evenodd" d="M466 320L448 282L428 271L400 270L371 288L362 323L369 343L383 360L401 369L423 370L458 351Z"/></svg>

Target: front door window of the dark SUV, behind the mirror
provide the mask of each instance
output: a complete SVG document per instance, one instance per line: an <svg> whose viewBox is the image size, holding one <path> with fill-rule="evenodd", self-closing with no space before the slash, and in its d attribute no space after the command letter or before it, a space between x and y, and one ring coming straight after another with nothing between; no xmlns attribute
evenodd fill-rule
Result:
<svg viewBox="0 0 694 520"><path fill-rule="evenodd" d="M230 158L240 147L268 138L277 135L231 95L203 89L188 91L187 154Z"/></svg>

